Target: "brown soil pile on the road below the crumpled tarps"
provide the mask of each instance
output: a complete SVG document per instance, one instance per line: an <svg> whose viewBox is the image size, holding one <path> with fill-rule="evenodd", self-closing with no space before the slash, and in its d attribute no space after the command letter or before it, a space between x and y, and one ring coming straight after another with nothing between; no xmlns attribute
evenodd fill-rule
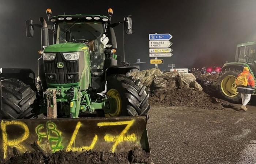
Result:
<svg viewBox="0 0 256 164"><path fill-rule="evenodd" d="M187 106L214 110L224 110L222 104L227 105L216 101L203 91L186 88L151 94L149 102L154 106Z"/></svg>

